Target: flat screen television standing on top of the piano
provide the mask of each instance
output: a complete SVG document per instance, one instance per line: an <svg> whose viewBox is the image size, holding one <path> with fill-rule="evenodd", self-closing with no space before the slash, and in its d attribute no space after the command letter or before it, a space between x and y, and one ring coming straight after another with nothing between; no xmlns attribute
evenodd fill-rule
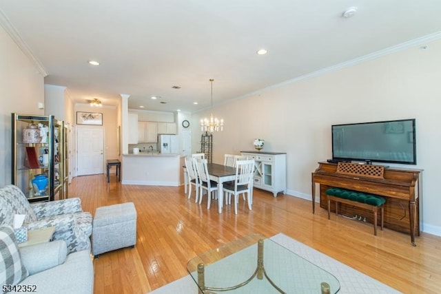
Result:
<svg viewBox="0 0 441 294"><path fill-rule="evenodd" d="M415 118L332 125L332 159L416 165Z"/></svg>

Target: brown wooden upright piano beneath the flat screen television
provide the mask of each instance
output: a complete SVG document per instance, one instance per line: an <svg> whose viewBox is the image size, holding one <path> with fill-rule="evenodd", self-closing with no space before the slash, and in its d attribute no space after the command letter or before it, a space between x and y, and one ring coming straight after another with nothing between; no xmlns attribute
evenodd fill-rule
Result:
<svg viewBox="0 0 441 294"><path fill-rule="evenodd" d="M385 167L381 177L356 175L337 171L337 164L318 162L312 173L312 212L316 211L316 184L320 186L320 207L327 209L326 190L331 187L372 193L386 198L384 204L384 227L410 233L411 242L420 235L420 198L422 198L422 169L399 169ZM346 164L351 165L351 164ZM357 163L353 163L354 167ZM373 218L368 211L340 204L340 213L347 216L363 216L368 222ZM331 203L331 211L335 204Z"/></svg>

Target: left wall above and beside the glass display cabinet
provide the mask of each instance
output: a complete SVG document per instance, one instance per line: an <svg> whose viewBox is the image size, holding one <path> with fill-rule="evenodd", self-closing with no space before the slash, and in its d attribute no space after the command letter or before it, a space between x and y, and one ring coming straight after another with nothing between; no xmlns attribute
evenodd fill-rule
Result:
<svg viewBox="0 0 441 294"><path fill-rule="evenodd" d="M11 113L43 114L43 74L0 25L0 187L11 183Z"/></svg>

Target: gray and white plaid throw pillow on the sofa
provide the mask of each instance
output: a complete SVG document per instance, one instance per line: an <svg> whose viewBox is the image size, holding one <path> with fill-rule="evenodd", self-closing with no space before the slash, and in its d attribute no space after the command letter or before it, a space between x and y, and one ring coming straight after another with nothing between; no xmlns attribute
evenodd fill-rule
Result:
<svg viewBox="0 0 441 294"><path fill-rule="evenodd" d="M28 275L28 270L21 264L14 230L9 226L0 227L0 286L18 284Z"/></svg>

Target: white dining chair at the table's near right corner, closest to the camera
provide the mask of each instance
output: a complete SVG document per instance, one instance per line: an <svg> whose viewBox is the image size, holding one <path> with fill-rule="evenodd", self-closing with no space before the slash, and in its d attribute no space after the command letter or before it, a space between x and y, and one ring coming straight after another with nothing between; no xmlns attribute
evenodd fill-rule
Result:
<svg viewBox="0 0 441 294"><path fill-rule="evenodd" d="M248 209L252 210L252 189L254 175L254 160L236 161L236 180L233 183L226 183L223 191L226 194L225 203L231 204L231 197L234 195L234 213L237 214L238 196L247 193ZM244 198L245 199L245 198Z"/></svg>

